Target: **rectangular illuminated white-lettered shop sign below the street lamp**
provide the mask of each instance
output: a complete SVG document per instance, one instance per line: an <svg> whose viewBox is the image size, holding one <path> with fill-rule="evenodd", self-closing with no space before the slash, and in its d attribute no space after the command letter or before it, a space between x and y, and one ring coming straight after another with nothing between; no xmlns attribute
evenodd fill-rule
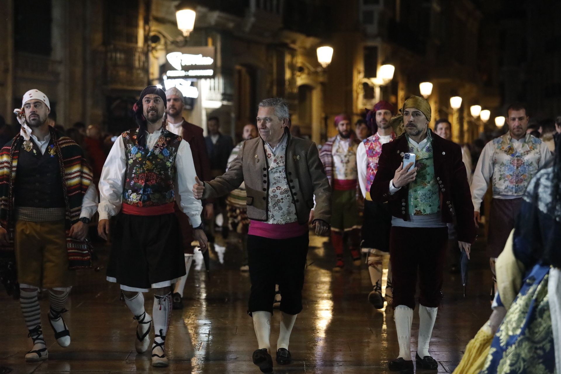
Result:
<svg viewBox="0 0 561 374"><path fill-rule="evenodd" d="M163 66L169 78L210 78L215 71L214 47L183 47L166 55Z"/></svg>

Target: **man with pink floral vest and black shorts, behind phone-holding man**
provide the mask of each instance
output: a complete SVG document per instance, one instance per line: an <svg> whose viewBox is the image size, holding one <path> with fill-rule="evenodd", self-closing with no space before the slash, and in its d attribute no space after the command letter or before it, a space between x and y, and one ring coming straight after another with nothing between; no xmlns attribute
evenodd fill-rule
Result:
<svg viewBox="0 0 561 374"><path fill-rule="evenodd" d="M392 228L392 214L387 202L374 202L370 198L370 186L378 170L378 159L382 153L382 145L396 138L390 120L393 105L381 100L366 115L366 122L374 135L367 137L358 145L356 163L358 168L358 184L364 202L364 223L362 224L362 251L368 253L367 263L370 281L374 288L368 295L368 301L376 309L384 307L382 297L383 264L388 269L388 283L385 297L388 303L392 300L392 266L389 264L389 230Z"/></svg>

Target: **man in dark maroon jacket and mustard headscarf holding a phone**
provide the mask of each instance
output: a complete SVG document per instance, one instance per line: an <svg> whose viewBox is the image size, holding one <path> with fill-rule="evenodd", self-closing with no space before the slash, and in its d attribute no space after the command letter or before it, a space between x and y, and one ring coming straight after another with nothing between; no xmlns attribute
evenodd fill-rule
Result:
<svg viewBox="0 0 561 374"><path fill-rule="evenodd" d="M389 369L412 374L410 340L417 273L421 290L417 369L435 370L438 363L429 354L429 343L443 297L446 224L456 216L459 250L468 258L476 228L460 147L428 128L431 109L425 99L412 96L401 113L392 122L403 121L405 133L382 146L370 197L389 201L392 212L389 251L399 355L389 362ZM415 167L403 168L406 153L415 154Z"/></svg>

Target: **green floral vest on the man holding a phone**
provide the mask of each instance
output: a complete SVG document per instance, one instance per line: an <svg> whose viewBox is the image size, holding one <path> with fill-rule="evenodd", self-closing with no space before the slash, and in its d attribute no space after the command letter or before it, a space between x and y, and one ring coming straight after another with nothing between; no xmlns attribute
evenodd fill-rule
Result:
<svg viewBox="0 0 561 374"><path fill-rule="evenodd" d="M407 138L409 140L409 138ZM414 153L417 177L409 184L409 214L429 215L440 210L440 195L434 175L433 137L430 131L424 147L417 149L408 141L409 153Z"/></svg>

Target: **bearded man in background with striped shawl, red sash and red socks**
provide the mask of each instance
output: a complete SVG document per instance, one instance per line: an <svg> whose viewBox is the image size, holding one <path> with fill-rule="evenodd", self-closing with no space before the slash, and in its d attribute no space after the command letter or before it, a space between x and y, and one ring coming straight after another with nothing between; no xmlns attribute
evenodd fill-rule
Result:
<svg viewBox="0 0 561 374"><path fill-rule="evenodd" d="M351 119L346 114L335 117L338 134L330 138L321 147L319 158L325 169L331 194L331 242L337 262L334 271L341 271L344 266L343 247L350 237L351 256L356 266L360 266L360 228L361 222L357 205L357 169L356 149L360 141L351 130Z"/></svg>

